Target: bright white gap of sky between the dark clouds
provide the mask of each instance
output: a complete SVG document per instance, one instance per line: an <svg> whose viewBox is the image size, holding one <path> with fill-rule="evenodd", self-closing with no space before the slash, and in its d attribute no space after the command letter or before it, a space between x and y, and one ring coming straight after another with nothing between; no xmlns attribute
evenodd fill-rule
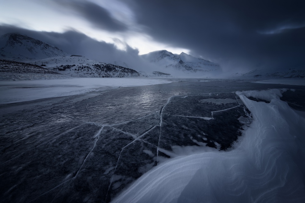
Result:
<svg viewBox="0 0 305 203"><path fill-rule="evenodd" d="M85 1L0 0L0 24L59 33L74 29L98 41L115 44L121 50L126 50L126 44L128 44L132 48L137 48L139 54L164 49L176 54L190 52L188 49L170 47L154 41L151 36L143 32L144 28L137 24L133 11L122 2L117 0L88 1L106 9L113 19L127 27L127 30L117 32L97 28L92 22L81 16L76 9L73 9L71 2L76 4Z"/></svg>

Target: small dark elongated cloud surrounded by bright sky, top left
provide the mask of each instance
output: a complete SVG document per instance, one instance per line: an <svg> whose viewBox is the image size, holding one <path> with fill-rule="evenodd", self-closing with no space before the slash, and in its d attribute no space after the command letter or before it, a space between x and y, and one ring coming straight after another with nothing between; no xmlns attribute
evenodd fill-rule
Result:
<svg viewBox="0 0 305 203"><path fill-rule="evenodd" d="M93 2L59 0L54 0L54 2L72 9L77 14L84 17L95 28L111 32L127 30L127 26L124 23L114 19L105 8Z"/></svg>

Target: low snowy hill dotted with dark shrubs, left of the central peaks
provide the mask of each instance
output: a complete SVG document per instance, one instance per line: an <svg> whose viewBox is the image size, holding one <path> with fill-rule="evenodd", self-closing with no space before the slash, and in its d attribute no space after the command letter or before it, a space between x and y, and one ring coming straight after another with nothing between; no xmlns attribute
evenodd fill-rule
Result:
<svg viewBox="0 0 305 203"><path fill-rule="evenodd" d="M36 61L28 61L35 65L43 65L45 68L72 77L137 77L138 72L131 68L101 63L82 56L60 56L45 58Z"/></svg>

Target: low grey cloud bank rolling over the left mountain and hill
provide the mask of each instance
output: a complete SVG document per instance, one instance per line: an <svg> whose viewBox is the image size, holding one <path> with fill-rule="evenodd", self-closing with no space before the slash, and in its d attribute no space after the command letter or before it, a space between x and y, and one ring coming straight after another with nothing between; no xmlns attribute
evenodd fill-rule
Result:
<svg viewBox="0 0 305 203"><path fill-rule="evenodd" d="M94 40L76 30L64 33L39 32L10 25L0 25L0 37L6 33L18 33L41 40L47 44L74 55L81 55L91 60L121 65L136 71L160 71L158 67L150 67L141 57L139 51L126 44L126 51L118 50L114 44ZM4 45L3 45L4 46ZM125 64L124 64L125 63Z"/></svg>

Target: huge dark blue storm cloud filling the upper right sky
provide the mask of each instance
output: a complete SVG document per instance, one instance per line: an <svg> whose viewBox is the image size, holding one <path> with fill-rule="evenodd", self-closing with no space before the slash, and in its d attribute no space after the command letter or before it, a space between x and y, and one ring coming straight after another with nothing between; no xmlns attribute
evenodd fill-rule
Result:
<svg viewBox="0 0 305 203"><path fill-rule="evenodd" d="M224 68L304 67L304 1L129 0L155 40Z"/></svg>

